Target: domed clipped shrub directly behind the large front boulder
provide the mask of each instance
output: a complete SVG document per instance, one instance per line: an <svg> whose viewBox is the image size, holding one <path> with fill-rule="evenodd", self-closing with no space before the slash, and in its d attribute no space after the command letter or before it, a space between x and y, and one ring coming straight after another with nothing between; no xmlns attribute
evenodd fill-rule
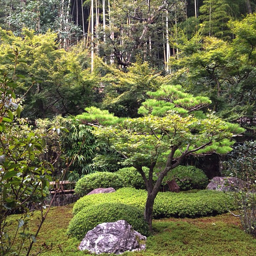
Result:
<svg viewBox="0 0 256 256"><path fill-rule="evenodd" d="M138 209L138 207L119 202L90 204L83 207L70 221L67 233L82 240L85 234L98 224L115 222L117 220L126 220L132 225L134 230L144 236L149 234L148 225L143 217L143 211Z"/></svg>

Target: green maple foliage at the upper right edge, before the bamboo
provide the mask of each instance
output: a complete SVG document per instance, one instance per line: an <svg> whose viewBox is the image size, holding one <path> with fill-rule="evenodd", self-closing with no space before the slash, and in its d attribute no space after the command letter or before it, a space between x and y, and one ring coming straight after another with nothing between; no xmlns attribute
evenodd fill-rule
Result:
<svg viewBox="0 0 256 256"><path fill-rule="evenodd" d="M172 69L177 70L171 79L195 95L209 97L211 108L221 118L253 129L256 14L229 21L228 27L235 35L231 42L198 34L189 41L180 41L180 58L172 61Z"/></svg>

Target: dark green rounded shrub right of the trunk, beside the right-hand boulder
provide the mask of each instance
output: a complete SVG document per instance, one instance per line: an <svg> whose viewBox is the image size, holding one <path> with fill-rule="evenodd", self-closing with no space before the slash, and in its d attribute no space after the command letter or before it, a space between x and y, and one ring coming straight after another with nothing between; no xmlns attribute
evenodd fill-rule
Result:
<svg viewBox="0 0 256 256"><path fill-rule="evenodd" d="M178 166L175 169L176 182L181 190L206 188L208 178L202 170L195 166Z"/></svg>

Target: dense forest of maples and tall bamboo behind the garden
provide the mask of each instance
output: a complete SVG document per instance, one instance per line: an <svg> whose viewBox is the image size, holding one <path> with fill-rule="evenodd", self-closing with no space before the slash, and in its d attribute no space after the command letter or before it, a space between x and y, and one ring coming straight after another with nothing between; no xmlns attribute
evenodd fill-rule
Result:
<svg viewBox="0 0 256 256"><path fill-rule="evenodd" d="M95 170L95 152L110 149L64 117L91 106L139 117L147 92L167 80L208 97L201 111L239 123L245 141L256 123L255 8L253 0L0 0L0 69L12 74L15 63L15 101L30 124L71 131L63 145L77 156L76 175Z"/></svg>

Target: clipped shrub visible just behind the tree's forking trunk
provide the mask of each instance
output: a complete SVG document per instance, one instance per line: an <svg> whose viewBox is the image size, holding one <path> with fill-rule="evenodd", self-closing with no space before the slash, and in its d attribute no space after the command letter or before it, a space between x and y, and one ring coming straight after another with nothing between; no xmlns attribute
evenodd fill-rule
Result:
<svg viewBox="0 0 256 256"><path fill-rule="evenodd" d="M148 177L148 168L143 167L143 172ZM134 187L136 189L146 189L145 182L143 181L141 174L134 167L127 167L119 169L116 172L120 175L120 178L123 180L123 187Z"/></svg>

